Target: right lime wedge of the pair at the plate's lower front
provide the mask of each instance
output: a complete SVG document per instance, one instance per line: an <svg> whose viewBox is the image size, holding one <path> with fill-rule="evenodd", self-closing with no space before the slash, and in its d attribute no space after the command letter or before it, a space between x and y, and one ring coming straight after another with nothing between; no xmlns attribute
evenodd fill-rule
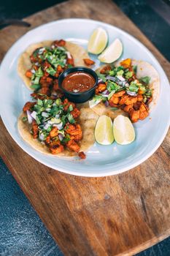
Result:
<svg viewBox="0 0 170 256"><path fill-rule="evenodd" d="M134 127L128 117L119 115L113 122L115 141L120 145L132 143L135 139Z"/></svg>

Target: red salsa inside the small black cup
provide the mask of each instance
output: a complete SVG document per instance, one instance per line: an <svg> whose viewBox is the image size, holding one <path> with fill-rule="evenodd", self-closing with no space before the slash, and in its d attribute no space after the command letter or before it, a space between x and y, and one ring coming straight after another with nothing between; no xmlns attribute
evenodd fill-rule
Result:
<svg viewBox="0 0 170 256"><path fill-rule="evenodd" d="M63 79L62 87L66 91L72 91L75 93L88 91L93 88L95 84L95 79L92 75L77 71L72 72Z"/></svg>

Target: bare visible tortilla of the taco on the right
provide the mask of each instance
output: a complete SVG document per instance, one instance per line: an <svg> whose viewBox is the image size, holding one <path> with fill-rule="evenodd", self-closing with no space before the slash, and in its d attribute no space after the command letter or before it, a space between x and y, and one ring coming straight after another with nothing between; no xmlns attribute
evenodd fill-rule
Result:
<svg viewBox="0 0 170 256"><path fill-rule="evenodd" d="M100 72L101 69L105 65L102 65L98 69L96 69L96 72ZM115 66L120 66L120 62L115 63ZM152 102L150 102L150 108L149 111L152 110L152 108L156 105L159 97L160 92L160 79L158 72L154 67L152 67L151 64L149 64L146 61L136 61L132 60L132 66L137 66L137 73L136 78L143 78L143 77L150 77L150 89L152 89ZM125 113L123 110L112 110L110 107L106 107L103 102L99 103L95 107L92 108L92 110L98 114L98 116L106 115L114 119L118 115L127 116L127 113Z"/></svg>

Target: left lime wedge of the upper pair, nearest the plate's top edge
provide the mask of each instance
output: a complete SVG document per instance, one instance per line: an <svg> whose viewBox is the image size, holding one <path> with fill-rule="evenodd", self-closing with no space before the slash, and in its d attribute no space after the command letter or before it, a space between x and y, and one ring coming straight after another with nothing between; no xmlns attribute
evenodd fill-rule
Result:
<svg viewBox="0 0 170 256"><path fill-rule="evenodd" d="M107 46L107 41L107 31L100 27L95 29L93 34L90 35L90 39L88 41L88 52L93 54L101 53Z"/></svg>

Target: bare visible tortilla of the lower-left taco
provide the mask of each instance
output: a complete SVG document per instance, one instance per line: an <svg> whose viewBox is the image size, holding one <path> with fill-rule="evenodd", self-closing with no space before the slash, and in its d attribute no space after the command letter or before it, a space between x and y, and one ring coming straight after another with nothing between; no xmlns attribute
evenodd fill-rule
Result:
<svg viewBox="0 0 170 256"><path fill-rule="evenodd" d="M25 140L30 146L35 148L37 151L47 154L50 156L56 157L74 157L77 156L77 153L65 149L62 153L53 155L50 153L49 148L44 144L40 143L39 140L34 139L30 133L31 125L28 122L23 122L23 116L26 116L26 113L21 113L18 118L18 130L21 137ZM96 121L98 115L93 112L90 108L81 108L80 109L80 120L79 124L82 127L82 140L80 141L80 151L87 151L90 146L93 146L95 143L94 138L94 129L96 126Z"/></svg>

